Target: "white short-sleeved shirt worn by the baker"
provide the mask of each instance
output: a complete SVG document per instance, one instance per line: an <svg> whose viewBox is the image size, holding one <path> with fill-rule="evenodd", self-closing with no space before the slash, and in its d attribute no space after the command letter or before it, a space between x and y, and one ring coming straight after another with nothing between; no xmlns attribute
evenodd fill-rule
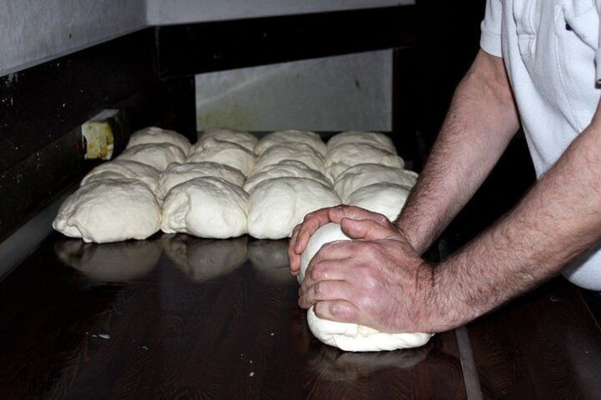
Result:
<svg viewBox="0 0 601 400"><path fill-rule="evenodd" d="M537 177L597 108L600 11L601 0L487 0L480 45L503 57ZM562 273L580 287L601 290L601 244Z"/></svg>

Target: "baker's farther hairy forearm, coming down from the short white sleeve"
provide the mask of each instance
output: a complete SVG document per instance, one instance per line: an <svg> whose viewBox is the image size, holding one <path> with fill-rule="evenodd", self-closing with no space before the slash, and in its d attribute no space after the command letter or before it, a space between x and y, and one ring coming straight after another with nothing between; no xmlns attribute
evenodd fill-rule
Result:
<svg viewBox="0 0 601 400"><path fill-rule="evenodd" d="M476 192L519 120L502 60L478 53L396 224L422 252Z"/></svg>

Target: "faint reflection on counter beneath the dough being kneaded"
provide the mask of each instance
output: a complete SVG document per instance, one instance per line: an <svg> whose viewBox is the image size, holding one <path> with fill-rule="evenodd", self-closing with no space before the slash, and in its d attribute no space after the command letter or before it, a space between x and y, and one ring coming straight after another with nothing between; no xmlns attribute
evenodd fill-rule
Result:
<svg viewBox="0 0 601 400"><path fill-rule="evenodd" d="M310 370L330 381L353 380L367 377L388 368L408 370L424 360L432 345L377 353L349 353L322 345L308 361Z"/></svg>

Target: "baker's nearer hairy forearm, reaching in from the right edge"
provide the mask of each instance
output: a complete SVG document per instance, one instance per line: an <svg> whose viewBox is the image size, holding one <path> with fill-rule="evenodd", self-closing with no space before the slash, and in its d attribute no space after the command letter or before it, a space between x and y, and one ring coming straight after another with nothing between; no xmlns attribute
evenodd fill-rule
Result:
<svg viewBox="0 0 601 400"><path fill-rule="evenodd" d="M598 113L598 111L597 111ZM561 271L601 239L601 127L593 122L512 212L435 270L446 326Z"/></svg>

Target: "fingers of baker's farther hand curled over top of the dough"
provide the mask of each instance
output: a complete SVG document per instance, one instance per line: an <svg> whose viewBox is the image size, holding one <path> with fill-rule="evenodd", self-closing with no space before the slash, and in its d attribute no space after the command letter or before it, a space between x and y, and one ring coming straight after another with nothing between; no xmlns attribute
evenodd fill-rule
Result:
<svg viewBox="0 0 601 400"><path fill-rule="evenodd" d="M298 224L292 232L290 246L288 247L288 260L290 261L290 272L292 275L298 275L300 270L300 254L305 251L311 235L328 222L340 224L342 218L373 219L374 221L386 224L393 229L391 222L383 215L359 207L339 205L337 207L322 208L311 212L305 216L303 222Z"/></svg>

